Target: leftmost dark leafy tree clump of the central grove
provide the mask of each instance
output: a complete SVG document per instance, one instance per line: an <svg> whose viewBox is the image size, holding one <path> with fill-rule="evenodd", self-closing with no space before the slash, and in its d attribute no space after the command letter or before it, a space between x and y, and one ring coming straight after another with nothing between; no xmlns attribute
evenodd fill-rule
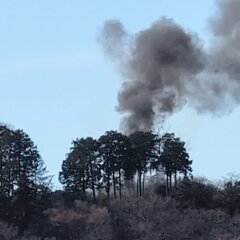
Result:
<svg viewBox="0 0 240 240"><path fill-rule="evenodd" d="M87 190L91 189L93 200L96 188L100 187L101 168L98 142L93 138L81 138L73 141L70 153L63 161L59 180L65 189L86 199Z"/></svg>

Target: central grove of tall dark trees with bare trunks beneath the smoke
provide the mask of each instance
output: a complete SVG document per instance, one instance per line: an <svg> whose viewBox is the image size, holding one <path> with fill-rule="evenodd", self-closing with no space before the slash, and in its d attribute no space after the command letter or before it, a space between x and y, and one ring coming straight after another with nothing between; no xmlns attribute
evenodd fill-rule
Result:
<svg viewBox="0 0 240 240"><path fill-rule="evenodd" d="M107 198L122 197L129 182L136 183L137 196L144 195L146 176L161 172L166 178L166 194L176 187L180 176L188 177L192 161L185 142L173 133L163 136L134 132L130 136L107 131L99 139L76 139L62 163L59 180L66 191L77 193L85 200L88 193L105 189Z"/></svg>

